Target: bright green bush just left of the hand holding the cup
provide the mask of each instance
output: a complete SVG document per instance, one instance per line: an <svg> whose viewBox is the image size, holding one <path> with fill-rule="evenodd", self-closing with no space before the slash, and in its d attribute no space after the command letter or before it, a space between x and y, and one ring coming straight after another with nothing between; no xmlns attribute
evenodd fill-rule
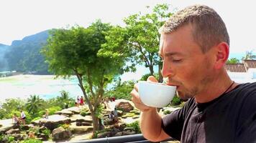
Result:
<svg viewBox="0 0 256 143"><path fill-rule="evenodd" d="M115 97L116 99L131 100L130 92L132 91L135 82L125 81L121 83L121 79L114 81L114 87L106 91L106 97Z"/></svg>

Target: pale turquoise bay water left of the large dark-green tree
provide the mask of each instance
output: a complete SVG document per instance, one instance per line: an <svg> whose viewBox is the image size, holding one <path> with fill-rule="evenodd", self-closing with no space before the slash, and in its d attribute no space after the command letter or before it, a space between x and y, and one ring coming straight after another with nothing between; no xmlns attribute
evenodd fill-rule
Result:
<svg viewBox="0 0 256 143"><path fill-rule="evenodd" d="M17 97L27 99L32 94L37 94L42 99L50 99L60 96L62 90L74 99L83 95L76 77L55 79L55 76L49 75L18 75L0 78L0 102Z"/></svg>

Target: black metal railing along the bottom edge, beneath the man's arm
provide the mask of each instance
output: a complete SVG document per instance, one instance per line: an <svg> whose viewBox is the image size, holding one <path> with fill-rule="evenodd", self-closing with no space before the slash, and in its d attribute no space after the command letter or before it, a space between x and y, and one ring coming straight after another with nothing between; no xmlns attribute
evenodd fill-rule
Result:
<svg viewBox="0 0 256 143"><path fill-rule="evenodd" d="M175 141L173 138L166 139L166 141ZM143 137L142 134L133 134L127 136L120 136L120 137L105 137L101 139L90 139L84 141L76 141L76 142L69 142L69 143L122 143L122 142L129 142L129 143L149 143L147 139Z"/></svg>

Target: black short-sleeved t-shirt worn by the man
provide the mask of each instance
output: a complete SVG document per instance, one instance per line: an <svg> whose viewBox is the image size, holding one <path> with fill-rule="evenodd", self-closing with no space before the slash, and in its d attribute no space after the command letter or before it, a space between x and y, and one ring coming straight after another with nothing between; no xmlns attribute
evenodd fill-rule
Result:
<svg viewBox="0 0 256 143"><path fill-rule="evenodd" d="M162 127L181 142L256 142L256 82L204 104L191 98L163 117Z"/></svg>

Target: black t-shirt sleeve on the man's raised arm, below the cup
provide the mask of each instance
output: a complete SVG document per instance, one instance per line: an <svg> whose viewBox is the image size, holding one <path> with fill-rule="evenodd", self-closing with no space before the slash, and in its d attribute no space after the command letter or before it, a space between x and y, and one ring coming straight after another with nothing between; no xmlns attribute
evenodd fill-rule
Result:
<svg viewBox="0 0 256 143"><path fill-rule="evenodd" d="M174 139L180 140L186 112L193 99L189 99L183 108L175 110L162 119L162 128L166 134Z"/></svg>

